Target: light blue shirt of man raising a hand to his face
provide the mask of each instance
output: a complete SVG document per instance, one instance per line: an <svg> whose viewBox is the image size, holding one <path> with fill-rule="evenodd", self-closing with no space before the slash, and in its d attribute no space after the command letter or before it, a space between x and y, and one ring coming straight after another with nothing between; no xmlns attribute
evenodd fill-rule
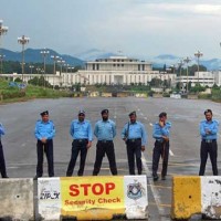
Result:
<svg viewBox="0 0 221 221"><path fill-rule="evenodd" d="M159 123L155 123L152 129L152 137L157 140L162 141L162 136L169 137L169 129L171 128L171 123L167 122L164 127Z"/></svg>

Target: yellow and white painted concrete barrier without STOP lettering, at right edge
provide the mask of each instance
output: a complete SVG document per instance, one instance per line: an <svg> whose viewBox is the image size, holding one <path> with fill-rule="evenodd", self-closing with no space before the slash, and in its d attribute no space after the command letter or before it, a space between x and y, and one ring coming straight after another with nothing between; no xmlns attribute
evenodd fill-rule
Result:
<svg viewBox="0 0 221 221"><path fill-rule="evenodd" d="M221 177L173 177L171 218L221 219Z"/></svg>

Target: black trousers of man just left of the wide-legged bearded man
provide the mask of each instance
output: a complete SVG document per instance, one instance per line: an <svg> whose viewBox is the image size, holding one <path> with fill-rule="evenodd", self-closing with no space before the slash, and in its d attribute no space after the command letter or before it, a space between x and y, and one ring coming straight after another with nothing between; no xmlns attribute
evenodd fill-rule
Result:
<svg viewBox="0 0 221 221"><path fill-rule="evenodd" d="M71 177L73 171L74 171L74 167L76 164L76 159L78 154L81 152L81 159L80 159L80 169L77 175L78 176L83 176L84 173L84 166L85 166L85 160L86 160L86 155L87 155L87 148L86 145L88 144L87 139L75 139L72 143L72 156L71 156L71 160L66 170L66 176Z"/></svg>

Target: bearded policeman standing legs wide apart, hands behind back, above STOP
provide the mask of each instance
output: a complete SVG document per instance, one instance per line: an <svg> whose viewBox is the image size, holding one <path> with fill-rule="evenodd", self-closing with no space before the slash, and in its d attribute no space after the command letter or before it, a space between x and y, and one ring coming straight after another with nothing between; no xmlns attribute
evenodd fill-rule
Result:
<svg viewBox="0 0 221 221"><path fill-rule="evenodd" d="M94 164L93 176L97 176L102 166L103 157L107 156L112 175L117 175L115 160L115 150L113 139L116 136L116 125L108 119L108 109L102 110L102 119L95 124L94 135L97 137L96 159Z"/></svg>

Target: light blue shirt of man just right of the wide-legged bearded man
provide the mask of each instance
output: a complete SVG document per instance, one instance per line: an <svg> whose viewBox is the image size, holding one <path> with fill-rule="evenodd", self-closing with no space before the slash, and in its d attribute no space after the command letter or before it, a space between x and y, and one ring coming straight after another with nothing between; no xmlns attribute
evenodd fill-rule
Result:
<svg viewBox="0 0 221 221"><path fill-rule="evenodd" d="M140 122L135 122L134 124L129 123L129 128L128 128L128 123L125 124L122 130L123 139L126 137L127 133L128 133L127 139L141 138L141 146L145 146L147 144L147 133L144 125Z"/></svg>

